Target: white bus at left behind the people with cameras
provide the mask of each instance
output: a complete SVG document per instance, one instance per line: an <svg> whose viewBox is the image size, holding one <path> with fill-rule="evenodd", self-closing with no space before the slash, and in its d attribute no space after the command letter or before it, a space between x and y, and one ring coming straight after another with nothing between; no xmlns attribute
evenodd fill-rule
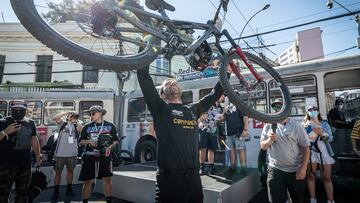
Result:
<svg viewBox="0 0 360 203"><path fill-rule="evenodd" d="M100 105L108 109L105 119L114 122L116 95L111 89L59 89L39 88L14 85L0 87L0 113L3 116L10 114L9 102L21 99L27 102L26 117L35 121L41 146L47 144L50 136L57 133L53 117L64 111L77 111L80 120L84 123L90 121L89 114L85 112L92 105Z"/></svg>

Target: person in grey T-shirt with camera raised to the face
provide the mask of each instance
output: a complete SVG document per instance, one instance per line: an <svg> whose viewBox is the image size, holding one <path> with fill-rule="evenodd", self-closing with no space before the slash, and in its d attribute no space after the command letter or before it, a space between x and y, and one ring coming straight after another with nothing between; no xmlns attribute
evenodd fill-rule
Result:
<svg viewBox="0 0 360 203"><path fill-rule="evenodd" d="M66 119L63 117L66 116ZM53 120L58 126L58 136L54 151L54 193L51 200L59 198L61 173L66 165L66 195L74 196L72 190L73 171L77 163L78 139L82 129L78 121L79 114L75 111L61 112L54 116Z"/></svg>

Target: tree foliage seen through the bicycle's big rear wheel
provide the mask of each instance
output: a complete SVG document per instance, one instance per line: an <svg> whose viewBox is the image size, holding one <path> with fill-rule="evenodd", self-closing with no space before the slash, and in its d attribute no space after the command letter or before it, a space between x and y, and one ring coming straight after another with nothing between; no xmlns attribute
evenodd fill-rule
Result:
<svg viewBox="0 0 360 203"><path fill-rule="evenodd" d="M42 14L50 23L65 23L75 20L79 13L90 14L91 6L96 0L63 0L61 3L47 2L49 11Z"/></svg>

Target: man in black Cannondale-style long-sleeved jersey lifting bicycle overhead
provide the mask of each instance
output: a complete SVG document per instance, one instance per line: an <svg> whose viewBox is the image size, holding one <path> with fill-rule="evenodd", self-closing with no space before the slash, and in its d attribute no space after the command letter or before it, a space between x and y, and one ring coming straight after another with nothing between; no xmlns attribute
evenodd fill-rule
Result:
<svg viewBox="0 0 360 203"><path fill-rule="evenodd" d="M176 80L162 83L160 97L150 77L149 66L137 70L137 77L154 119L157 137L155 202L203 202L197 120L223 94L220 83L199 102L184 105Z"/></svg>

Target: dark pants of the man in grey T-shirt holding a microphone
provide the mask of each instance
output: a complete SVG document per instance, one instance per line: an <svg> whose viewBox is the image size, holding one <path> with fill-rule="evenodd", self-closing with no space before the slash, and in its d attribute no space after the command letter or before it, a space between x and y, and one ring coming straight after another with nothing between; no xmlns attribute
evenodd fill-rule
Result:
<svg viewBox="0 0 360 203"><path fill-rule="evenodd" d="M268 168L268 194L272 203L285 203L287 191L293 203L304 203L305 180L296 180L296 173Z"/></svg>

